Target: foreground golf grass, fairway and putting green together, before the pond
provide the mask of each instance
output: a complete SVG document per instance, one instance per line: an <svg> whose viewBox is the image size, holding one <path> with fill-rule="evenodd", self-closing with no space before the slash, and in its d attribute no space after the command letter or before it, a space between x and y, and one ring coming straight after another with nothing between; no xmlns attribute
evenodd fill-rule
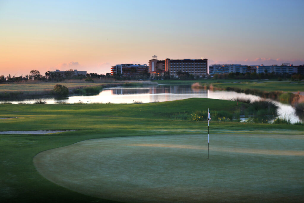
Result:
<svg viewBox="0 0 304 203"><path fill-rule="evenodd" d="M0 104L1 202L302 202L302 125L177 120L241 102ZM207 115L206 115L207 116ZM25 132L26 133L26 132Z"/></svg>

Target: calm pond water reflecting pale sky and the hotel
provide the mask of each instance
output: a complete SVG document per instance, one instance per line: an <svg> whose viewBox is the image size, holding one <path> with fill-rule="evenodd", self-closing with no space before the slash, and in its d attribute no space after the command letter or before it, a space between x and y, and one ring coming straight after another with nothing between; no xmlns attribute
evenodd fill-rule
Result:
<svg viewBox="0 0 304 203"><path fill-rule="evenodd" d="M64 99L44 98L47 103L134 103L134 102L163 102L182 100L188 98L211 98L230 100L236 97L250 98L252 101L260 100L261 97L230 91L211 91L206 89L192 89L190 85L157 85L144 87L112 87L103 89L98 95L69 96ZM19 103L21 101L10 101ZM34 103L35 99L22 100L26 103ZM290 118L292 123L300 121L295 115L294 108L289 104L274 101L278 106L279 117Z"/></svg>

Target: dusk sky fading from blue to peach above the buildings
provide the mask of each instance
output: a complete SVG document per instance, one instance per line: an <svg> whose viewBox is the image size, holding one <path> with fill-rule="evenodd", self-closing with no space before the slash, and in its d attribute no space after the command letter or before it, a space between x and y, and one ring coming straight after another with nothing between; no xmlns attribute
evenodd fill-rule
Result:
<svg viewBox="0 0 304 203"><path fill-rule="evenodd" d="M0 75L207 58L304 64L303 0L0 0Z"/></svg>

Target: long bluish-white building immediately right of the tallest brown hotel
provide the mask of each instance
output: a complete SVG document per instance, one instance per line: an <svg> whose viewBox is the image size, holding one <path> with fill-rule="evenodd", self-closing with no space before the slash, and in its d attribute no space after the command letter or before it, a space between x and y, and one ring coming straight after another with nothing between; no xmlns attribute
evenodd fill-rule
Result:
<svg viewBox="0 0 304 203"><path fill-rule="evenodd" d="M214 64L209 66L209 75L223 74L223 73L247 73L256 72L255 66L247 66L240 64Z"/></svg>

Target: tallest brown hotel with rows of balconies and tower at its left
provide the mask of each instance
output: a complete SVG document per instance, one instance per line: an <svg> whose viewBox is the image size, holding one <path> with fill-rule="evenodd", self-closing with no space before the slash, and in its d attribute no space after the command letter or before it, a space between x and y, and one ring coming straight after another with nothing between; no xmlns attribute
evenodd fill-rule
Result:
<svg viewBox="0 0 304 203"><path fill-rule="evenodd" d="M169 59L164 61L151 59L149 61L150 77L170 74L178 77L179 72L188 72L194 76L203 77L208 72L208 59Z"/></svg>

